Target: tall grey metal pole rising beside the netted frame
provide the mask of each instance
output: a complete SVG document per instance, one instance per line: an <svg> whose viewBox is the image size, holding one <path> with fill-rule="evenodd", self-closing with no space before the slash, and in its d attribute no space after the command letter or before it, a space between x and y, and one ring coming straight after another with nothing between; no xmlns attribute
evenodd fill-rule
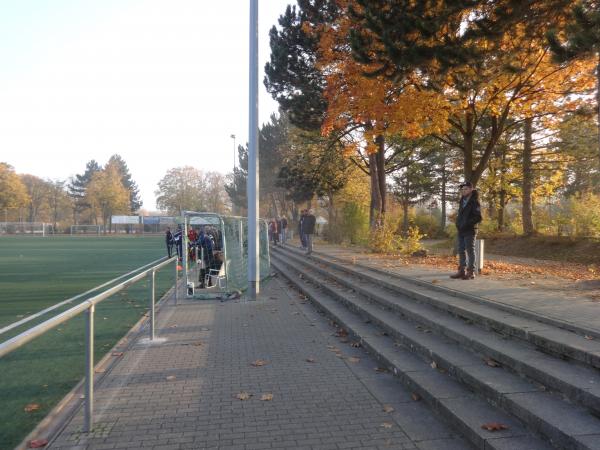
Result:
<svg viewBox="0 0 600 450"><path fill-rule="evenodd" d="M250 62L248 101L248 298L260 291L258 242L258 0L250 0Z"/></svg>

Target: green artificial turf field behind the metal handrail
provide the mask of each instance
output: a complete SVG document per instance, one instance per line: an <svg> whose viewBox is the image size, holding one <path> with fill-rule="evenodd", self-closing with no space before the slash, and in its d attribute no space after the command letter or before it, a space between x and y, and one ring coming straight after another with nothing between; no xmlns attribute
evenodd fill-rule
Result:
<svg viewBox="0 0 600 450"><path fill-rule="evenodd" d="M0 328L165 256L163 236L0 236ZM173 285L157 273L157 300ZM78 300L78 302L81 300ZM146 280L96 307L95 357L147 311ZM0 335L0 342L68 307ZM0 449L12 449L83 377L80 315L0 359ZM26 412L28 404L39 409Z"/></svg>

